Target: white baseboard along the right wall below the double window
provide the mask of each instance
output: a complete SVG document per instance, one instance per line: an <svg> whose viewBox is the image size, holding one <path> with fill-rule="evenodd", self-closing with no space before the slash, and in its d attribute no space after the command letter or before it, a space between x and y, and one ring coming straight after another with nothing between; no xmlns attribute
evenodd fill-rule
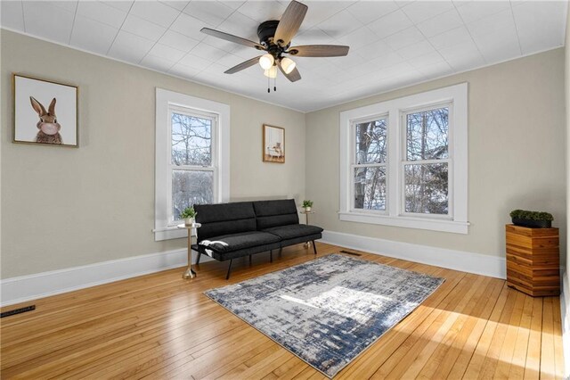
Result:
<svg viewBox="0 0 570 380"><path fill-rule="evenodd" d="M474 252L448 250L341 232L324 231L322 242L359 251L410 260L436 267L460 270L489 277L506 278L506 260L502 257Z"/></svg>

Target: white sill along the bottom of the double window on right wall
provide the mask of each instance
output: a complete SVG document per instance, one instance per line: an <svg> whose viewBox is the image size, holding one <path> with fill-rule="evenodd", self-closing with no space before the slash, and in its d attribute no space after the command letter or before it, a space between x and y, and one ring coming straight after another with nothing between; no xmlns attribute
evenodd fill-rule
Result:
<svg viewBox="0 0 570 380"><path fill-rule="evenodd" d="M413 217L393 217L388 215L371 215L356 212L338 212L338 219L358 223L379 224L384 226L428 229L431 231L467 234L469 222L443 219L424 219Z"/></svg>

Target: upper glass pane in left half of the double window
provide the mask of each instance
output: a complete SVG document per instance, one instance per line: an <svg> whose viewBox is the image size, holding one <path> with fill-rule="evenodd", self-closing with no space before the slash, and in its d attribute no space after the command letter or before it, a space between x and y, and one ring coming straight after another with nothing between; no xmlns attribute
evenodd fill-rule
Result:
<svg viewBox="0 0 570 380"><path fill-rule="evenodd" d="M356 164L386 162L387 120L356 124Z"/></svg>

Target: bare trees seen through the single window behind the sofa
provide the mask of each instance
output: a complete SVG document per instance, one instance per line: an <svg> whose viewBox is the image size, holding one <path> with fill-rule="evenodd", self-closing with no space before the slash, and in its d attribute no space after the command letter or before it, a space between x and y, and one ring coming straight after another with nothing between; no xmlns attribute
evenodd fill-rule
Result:
<svg viewBox="0 0 570 380"><path fill-rule="evenodd" d="M212 120L171 113L172 218L186 207L214 201Z"/></svg>

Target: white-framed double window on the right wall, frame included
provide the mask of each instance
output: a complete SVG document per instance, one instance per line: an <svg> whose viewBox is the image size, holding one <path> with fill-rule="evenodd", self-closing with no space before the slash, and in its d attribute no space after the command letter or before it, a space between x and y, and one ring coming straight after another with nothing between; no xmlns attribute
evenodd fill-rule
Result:
<svg viewBox="0 0 570 380"><path fill-rule="evenodd" d="M340 113L339 219L467 234L467 84Z"/></svg>

